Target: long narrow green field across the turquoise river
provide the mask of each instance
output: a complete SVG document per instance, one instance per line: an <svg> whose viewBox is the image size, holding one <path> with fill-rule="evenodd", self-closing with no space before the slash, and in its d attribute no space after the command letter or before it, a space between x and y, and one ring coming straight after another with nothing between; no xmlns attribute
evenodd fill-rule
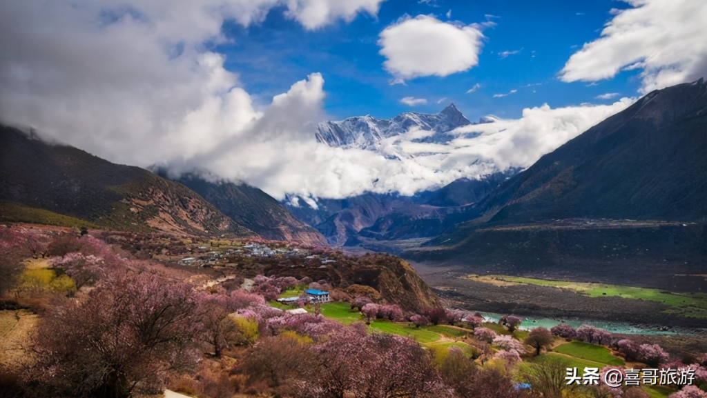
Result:
<svg viewBox="0 0 707 398"><path fill-rule="evenodd" d="M631 300L653 301L670 305L671 312L684 317L707 317L707 293L678 294L653 288L635 288L632 286L607 285L604 283L583 283L568 281L550 281L547 279L522 278L520 276L490 275L486 279L496 279L511 283L525 283L538 286L566 288L590 297L614 296Z"/></svg>

